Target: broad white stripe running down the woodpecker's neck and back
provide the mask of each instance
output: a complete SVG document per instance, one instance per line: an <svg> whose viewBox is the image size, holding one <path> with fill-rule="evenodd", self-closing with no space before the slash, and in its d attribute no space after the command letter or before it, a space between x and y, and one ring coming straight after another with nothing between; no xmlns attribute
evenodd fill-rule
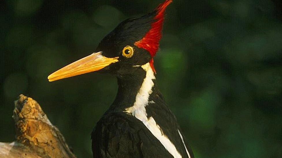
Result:
<svg viewBox="0 0 282 158"><path fill-rule="evenodd" d="M125 112L133 115L150 130L150 132L162 143L164 148L175 158L182 158L175 145L162 132L153 117L148 118L145 106L149 103L149 96L152 93L155 79L154 72L149 63L141 66L146 71L146 77L136 95L133 106L126 108ZM153 102L152 102L153 103Z"/></svg>

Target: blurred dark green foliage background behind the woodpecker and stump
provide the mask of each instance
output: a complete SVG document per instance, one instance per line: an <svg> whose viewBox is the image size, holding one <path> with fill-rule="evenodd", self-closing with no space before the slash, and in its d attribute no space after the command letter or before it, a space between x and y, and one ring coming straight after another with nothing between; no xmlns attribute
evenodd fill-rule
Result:
<svg viewBox="0 0 282 158"><path fill-rule="evenodd" d="M163 0L9 0L0 3L0 141L14 140L14 100L37 100L77 157L113 102L116 79L97 73L49 83L121 21ZM157 82L197 158L282 157L281 0L174 0Z"/></svg>

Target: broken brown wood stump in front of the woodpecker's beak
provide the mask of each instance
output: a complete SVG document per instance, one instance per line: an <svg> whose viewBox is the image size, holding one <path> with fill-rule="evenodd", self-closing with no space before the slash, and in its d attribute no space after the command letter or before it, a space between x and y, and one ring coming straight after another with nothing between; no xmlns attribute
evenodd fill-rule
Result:
<svg viewBox="0 0 282 158"><path fill-rule="evenodd" d="M60 131L32 98L19 96L13 119L16 141L0 142L0 157L75 157Z"/></svg>

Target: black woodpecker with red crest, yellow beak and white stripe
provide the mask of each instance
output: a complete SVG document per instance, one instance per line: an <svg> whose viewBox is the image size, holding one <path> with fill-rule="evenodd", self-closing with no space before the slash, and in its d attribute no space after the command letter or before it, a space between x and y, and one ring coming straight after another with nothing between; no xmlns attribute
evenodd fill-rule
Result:
<svg viewBox="0 0 282 158"><path fill-rule="evenodd" d="M165 0L153 12L121 22L102 39L96 53L48 76L49 81L94 71L116 76L116 98L91 134L93 157L194 157L156 85L153 57L171 2Z"/></svg>

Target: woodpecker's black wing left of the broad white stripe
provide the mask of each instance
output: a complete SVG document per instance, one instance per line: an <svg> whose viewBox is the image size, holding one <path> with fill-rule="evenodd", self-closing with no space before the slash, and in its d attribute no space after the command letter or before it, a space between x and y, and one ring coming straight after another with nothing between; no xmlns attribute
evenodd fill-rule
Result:
<svg viewBox="0 0 282 158"><path fill-rule="evenodd" d="M93 157L172 157L141 121L125 113L104 115L92 132Z"/></svg>

